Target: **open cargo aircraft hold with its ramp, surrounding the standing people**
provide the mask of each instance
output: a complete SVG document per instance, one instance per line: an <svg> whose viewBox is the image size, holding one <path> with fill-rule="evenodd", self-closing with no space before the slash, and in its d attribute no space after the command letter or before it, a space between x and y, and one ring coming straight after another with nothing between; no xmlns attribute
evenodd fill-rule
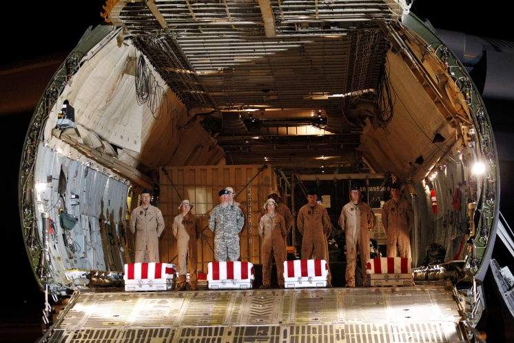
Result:
<svg viewBox="0 0 514 343"><path fill-rule="evenodd" d="M466 68L404 1L120 0L106 1L105 21L50 80L25 139L19 208L48 300L41 342L477 335L499 220L493 131ZM413 213L413 282L365 286L357 264L357 287L345 287L341 208L357 186L377 219L371 252L386 257L392 184ZM201 275L227 186L245 216L240 261L254 264L254 289L123 292L141 193L164 218L160 262L177 263L172 222L184 199L194 205ZM316 190L333 226L332 287L258 289L273 190L295 217L287 259L301 257L296 215Z"/></svg>

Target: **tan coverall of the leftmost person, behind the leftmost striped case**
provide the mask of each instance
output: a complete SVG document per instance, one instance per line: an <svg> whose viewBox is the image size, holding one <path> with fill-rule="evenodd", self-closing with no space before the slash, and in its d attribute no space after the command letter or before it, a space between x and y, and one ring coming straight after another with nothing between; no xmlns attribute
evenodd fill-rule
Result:
<svg viewBox="0 0 514 343"><path fill-rule="evenodd" d="M136 234L136 262L159 262L158 237L161 237L163 230L163 214L155 206L138 206L132 210L130 231Z"/></svg>

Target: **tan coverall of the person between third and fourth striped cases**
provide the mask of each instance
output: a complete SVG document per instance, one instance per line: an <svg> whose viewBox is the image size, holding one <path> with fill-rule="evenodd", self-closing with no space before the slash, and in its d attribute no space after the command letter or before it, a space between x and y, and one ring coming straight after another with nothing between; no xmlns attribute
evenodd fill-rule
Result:
<svg viewBox="0 0 514 343"><path fill-rule="evenodd" d="M375 215L373 215L371 207L365 202L359 202L358 204L349 202L342 206L339 226L345 231L347 246L347 270L345 274L347 287L355 287L357 252L360 255L360 266L364 280L366 262L369 259L369 231L375 226L375 223Z"/></svg>

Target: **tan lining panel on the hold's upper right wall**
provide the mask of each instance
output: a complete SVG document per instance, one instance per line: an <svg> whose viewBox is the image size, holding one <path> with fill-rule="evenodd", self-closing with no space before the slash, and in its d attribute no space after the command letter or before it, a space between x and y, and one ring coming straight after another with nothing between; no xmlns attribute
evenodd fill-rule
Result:
<svg viewBox="0 0 514 343"><path fill-rule="evenodd" d="M359 150L377 171L422 179L429 167L455 143L453 129L399 55L387 53L393 119L385 128L367 122ZM435 133L444 141L432 143ZM422 155L424 164L414 164Z"/></svg>

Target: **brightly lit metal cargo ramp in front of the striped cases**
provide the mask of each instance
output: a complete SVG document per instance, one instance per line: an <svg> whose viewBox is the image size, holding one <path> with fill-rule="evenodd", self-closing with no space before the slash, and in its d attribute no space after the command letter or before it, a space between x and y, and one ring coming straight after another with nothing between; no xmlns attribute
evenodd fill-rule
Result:
<svg viewBox="0 0 514 343"><path fill-rule="evenodd" d="M467 342L451 288L77 293L52 343Z"/></svg>

